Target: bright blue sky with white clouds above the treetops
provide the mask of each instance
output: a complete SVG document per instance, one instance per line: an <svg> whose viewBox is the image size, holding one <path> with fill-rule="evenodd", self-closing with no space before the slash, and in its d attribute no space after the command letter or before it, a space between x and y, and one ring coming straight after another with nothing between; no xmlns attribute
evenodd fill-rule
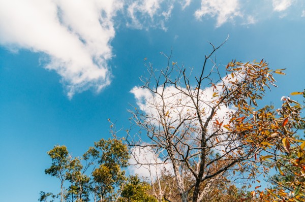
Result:
<svg viewBox="0 0 305 202"><path fill-rule="evenodd" d="M301 0L0 0L2 200L59 192L44 174L48 150L66 145L82 155L110 138L108 118L128 128L145 63L164 68L160 52L172 50L171 60L196 75L208 42L228 36L215 55L220 66L264 58L286 68L259 105L280 107L282 96L305 88Z"/></svg>

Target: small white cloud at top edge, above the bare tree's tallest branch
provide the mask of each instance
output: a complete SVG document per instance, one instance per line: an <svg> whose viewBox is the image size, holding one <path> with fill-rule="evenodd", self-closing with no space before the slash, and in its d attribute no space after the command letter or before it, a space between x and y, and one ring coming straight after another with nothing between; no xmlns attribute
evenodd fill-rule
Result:
<svg viewBox="0 0 305 202"><path fill-rule="evenodd" d="M195 17L200 20L205 15L217 16L217 27L236 16L242 16L238 0L201 0L201 8L196 10Z"/></svg>

